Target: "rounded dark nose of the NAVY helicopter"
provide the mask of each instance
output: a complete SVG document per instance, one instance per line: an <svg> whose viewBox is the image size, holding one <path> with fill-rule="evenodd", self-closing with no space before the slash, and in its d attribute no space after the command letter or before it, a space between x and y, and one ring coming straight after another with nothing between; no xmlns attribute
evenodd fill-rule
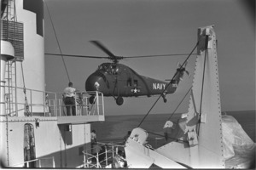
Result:
<svg viewBox="0 0 256 170"><path fill-rule="evenodd" d="M92 74L90 75L90 77L87 78L86 82L85 82L85 89L87 92L90 91L101 91L101 86L103 82L103 78Z"/></svg>

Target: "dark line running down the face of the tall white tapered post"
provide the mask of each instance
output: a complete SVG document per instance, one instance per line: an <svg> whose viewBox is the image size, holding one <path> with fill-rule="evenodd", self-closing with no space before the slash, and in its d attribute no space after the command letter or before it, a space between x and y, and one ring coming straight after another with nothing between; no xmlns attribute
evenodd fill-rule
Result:
<svg viewBox="0 0 256 170"><path fill-rule="evenodd" d="M202 108L202 98L203 98L203 92L204 92L204 82L205 82L205 74L206 74L206 63L207 63L207 43L208 43L209 36L206 37L206 43L205 43L205 59L204 59L204 68L203 68L203 77L201 81L201 101L200 101L200 112L199 112L199 124L198 124L198 129L197 129L197 135L199 135L200 131L200 124L201 124L201 108Z"/></svg>

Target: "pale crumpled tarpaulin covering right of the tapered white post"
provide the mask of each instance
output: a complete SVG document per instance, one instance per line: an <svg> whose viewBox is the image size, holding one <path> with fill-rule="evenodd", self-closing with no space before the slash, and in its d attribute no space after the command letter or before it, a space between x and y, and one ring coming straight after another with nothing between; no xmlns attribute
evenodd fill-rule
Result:
<svg viewBox="0 0 256 170"><path fill-rule="evenodd" d="M255 143L233 116L222 116L226 168L255 167Z"/></svg>

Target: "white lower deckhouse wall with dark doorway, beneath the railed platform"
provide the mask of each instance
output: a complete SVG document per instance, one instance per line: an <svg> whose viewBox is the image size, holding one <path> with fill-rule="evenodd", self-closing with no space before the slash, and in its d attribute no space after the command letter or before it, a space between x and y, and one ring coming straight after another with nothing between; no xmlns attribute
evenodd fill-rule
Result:
<svg viewBox="0 0 256 170"><path fill-rule="evenodd" d="M57 103L58 100L52 103ZM77 108L85 108L84 111L77 111L77 116L66 116L65 105L39 104L44 106L45 111L49 108L50 111L32 113L31 116L10 116L3 109L0 116L0 129L3 134L0 158L3 166L23 167L25 162L32 161L35 161L35 167L78 167L83 164L82 151L90 150L90 122L105 120L103 103L98 103L99 101L101 99L96 99L94 105L77 105ZM4 105L6 100L3 95ZM36 155L35 159L29 161L24 156L26 124L33 127ZM48 161L44 161L45 159Z"/></svg>

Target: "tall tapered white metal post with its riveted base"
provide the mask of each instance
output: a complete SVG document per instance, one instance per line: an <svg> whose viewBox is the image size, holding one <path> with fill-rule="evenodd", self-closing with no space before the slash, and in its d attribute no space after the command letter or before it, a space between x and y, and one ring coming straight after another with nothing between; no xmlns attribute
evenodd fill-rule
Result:
<svg viewBox="0 0 256 170"><path fill-rule="evenodd" d="M197 59L189 111L184 119L183 143L172 141L156 150L133 139L125 144L129 167L148 168L153 163L167 168L224 168L221 106L218 85L216 35L213 26L198 29ZM179 125L182 127L182 125ZM145 136L141 129L133 134Z"/></svg>

